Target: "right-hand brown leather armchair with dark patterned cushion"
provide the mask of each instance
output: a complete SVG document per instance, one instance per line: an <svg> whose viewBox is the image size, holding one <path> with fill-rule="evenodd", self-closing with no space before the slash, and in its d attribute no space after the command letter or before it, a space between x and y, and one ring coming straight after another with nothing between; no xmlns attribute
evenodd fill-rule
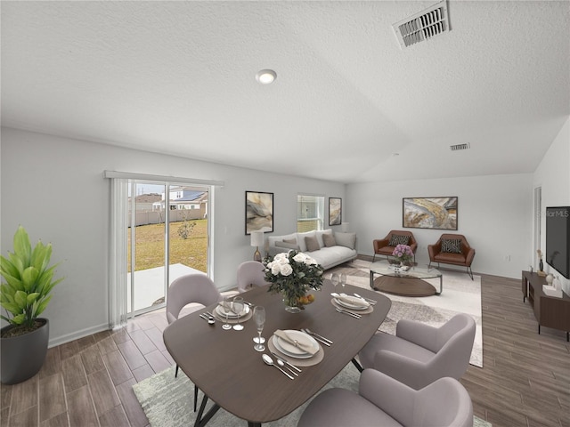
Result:
<svg viewBox="0 0 570 427"><path fill-rule="evenodd" d="M475 257L475 249L469 246L467 238L460 234L442 234L435 245L428 245L429 266L432 262L467 267L467 273L473 280L471 263Z"/></svg>

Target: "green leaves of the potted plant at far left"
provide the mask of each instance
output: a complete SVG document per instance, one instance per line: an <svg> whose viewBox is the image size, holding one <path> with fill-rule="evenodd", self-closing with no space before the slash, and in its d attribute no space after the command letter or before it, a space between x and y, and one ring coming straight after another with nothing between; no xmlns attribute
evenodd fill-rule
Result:
<svg viewBox="0 0 570 427"><path fill-rule="evenodd" d="M36 318L52 299L53 286L63 280L53 280L59 263L49 266L52 244L44 245L39 240L32 249L21 225L14 234L13 250L8 258L0 256L0 275L5 280L0 286L0 305L7 314L0 318L15 326L10 328L11 336L28 334L38 327Z"/></svg>

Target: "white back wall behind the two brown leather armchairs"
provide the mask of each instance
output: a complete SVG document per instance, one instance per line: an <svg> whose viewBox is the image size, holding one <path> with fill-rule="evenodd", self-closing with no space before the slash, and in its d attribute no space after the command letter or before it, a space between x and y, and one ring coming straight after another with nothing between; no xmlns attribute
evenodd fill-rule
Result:
<svg viewBox="0 0 570 427"><path fill-rule="evenodd" d="M428 245L436 243L442 233L457 232L476 249L474 272L520 278L521 270L530 263L527 250L531 245L528 233L531 218L527 213L533 207L530 173L350 184L346 192L359 254L374 253L374 238L384 238L389 230L404 230L403 197L457 196L457 231L405 229L418 240L417 262L429 262Z"/></svg>

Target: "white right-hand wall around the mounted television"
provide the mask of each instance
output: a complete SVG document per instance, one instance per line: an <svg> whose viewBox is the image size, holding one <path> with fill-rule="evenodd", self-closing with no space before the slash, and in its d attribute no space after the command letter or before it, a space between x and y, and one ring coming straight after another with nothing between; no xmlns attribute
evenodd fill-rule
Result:
<svg viewBox="0 0 570 427"><path fill-rule="evenodd" d="M533 188L542 188L541 249L546 253L546 206L570 206L570 118L542 157L533 175ZM536 248L532 248L535 255ZM570 280L544 264L544 270L560 278L566 294L570 294Z"/></svg>

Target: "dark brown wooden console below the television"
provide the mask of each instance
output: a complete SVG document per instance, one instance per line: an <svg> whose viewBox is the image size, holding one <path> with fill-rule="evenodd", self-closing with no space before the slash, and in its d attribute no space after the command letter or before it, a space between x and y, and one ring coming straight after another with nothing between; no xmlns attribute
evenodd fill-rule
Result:
<svg viewBox="0 0 570 427"><path fill-rule="evenodd" d="M523 271L523 302L528 298L538 321L538 333L541 326L566 331L566 341L570 341L570 296L562 293L562 297L549 296L542 292L546 278L530 271Z"/></svg>

